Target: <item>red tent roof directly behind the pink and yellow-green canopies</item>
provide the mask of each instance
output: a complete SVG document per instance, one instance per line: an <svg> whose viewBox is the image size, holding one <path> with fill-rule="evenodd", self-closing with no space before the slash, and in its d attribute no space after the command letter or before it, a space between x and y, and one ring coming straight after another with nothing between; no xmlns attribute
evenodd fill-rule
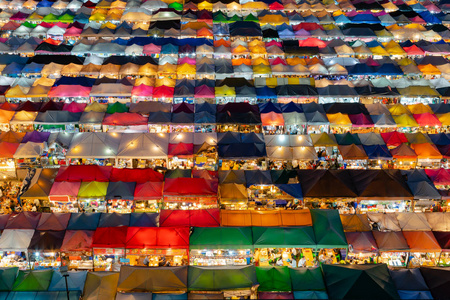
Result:
<svg viewBox="0 0 450 300"><path fill-rule="evenodd" d="M59 168L55 181L100 181L108 182L112 167L68 166Z"/></svg>

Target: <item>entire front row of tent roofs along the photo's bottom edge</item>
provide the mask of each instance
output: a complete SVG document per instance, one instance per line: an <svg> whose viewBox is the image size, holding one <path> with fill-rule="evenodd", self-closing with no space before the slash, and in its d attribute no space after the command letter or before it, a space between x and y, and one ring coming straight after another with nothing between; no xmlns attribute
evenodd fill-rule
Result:
<svg viewBox="0 0 450 300"><path fill-rule="evenodd" d="M259 299L355 299L367 297L367 293L378 299L445 299L449 292L448 272L446 268L426 267L388 270L383 264L308 269L123 266L118 273L69 272L68 287L70 299L78 299L81 292L83 299L188 299L200 296L196 292L201 291L216 292L202 294L207 299L222 299L224 293L249 291L254 286L258 286ZM51 270L4 269L1 297L49 299L46 297L64 291L63 278Z"/></svg>

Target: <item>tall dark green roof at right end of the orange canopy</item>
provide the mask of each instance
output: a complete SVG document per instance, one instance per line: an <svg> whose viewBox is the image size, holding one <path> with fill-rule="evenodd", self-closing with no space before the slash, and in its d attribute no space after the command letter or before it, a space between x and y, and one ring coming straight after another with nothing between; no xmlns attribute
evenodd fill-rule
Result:
<svg viewBox="0 0 450 300"><path fill-rule="evenodd" d="M347 248L344 228L339 211L332 209L311 209L317 248Z"/></svg>

